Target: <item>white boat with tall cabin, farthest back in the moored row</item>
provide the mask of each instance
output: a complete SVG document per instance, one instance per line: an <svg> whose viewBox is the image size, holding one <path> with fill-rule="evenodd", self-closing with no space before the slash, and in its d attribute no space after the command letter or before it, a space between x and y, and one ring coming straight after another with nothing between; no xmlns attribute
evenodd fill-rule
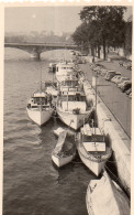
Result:
<svg viewBox="0 0 134 215"><path fill-rule="evenodd" d="M74 79L78 77L78 72L74 63L62 62L56 65L56 79L60 84L67 78Z"/></svg>

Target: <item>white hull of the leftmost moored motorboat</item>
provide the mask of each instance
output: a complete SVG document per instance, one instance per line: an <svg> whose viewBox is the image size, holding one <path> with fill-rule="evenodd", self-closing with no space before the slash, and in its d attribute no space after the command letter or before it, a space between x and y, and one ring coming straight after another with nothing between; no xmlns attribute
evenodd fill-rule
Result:
<svg viewBox="0 0 134 215"><path fill-rule="evenodd" d="M30 119L32 119L32 121L34 121L35 123L37 123L38 126L44 125L45 122L47 122L53 114L53 109L45 109L45 110L40 110L40 109L30 109L26 108L27 110L27 116L30 117Z"/></svg>

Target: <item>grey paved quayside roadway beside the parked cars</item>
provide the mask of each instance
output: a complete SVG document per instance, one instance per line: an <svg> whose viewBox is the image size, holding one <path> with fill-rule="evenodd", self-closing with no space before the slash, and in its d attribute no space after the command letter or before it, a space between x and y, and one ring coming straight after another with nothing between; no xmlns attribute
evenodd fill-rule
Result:
<svg viewBox="0 0 134 215"><path fill-rule="evenodd" d="M118 61L101 61L99 64L104 65L108 69L121 72L122 76L132 77L132 72L121 67ZM79 67L85 72L87 79L91 84L94 72L92 72L90 65L90 63L79 64ZM132 99L126 94L123 94L114 83L105 80L102 76L98 77L97 92L124 130L124 133L131 139ZM131 143L127 147L131 149Z"/></svg>

